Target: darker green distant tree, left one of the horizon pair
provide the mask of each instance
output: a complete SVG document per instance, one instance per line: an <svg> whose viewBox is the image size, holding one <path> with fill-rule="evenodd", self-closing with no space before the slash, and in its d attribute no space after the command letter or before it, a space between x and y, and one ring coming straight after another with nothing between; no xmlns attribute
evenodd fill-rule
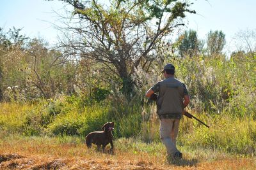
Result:
<svg viewBox="0 0 256 170"><path fill-rule="evenodd" d="M204 46L204 43L198 39L197 32L191 29L180 35L178 41L180 41L179 54L182 58L198 55Z"/></svg>

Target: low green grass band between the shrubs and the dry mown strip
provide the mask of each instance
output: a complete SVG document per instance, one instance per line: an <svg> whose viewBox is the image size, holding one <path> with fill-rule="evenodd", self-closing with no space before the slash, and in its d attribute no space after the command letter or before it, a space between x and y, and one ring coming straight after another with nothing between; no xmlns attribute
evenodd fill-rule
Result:
<svg viewBox="0 0 256 170"><path fill-rule="evenodd" d="M60 113L56 115L51 115L49 107L52 107L52 104L48 103L49 105L47 105L46 101L33 105L1 103L0 128L2 133L21 134L28 138L30 136L56 138L57 136L64 142L77 143L77 139L72 141L75 139L72 136L82 139L88 132L100 131L105 122L114 121L115 131L113 134L120 143L127 143L125 139L132 138L141 143L147 143L145 146L140 144L141 146L138 147L143 152L153 153L160 150L157 148L161 141L155 107L149 106L141 110L134 106L124 114L120 110L125 108L121 106L119 109L114 109L111 105L95 105L85 107L84 111L79 113L76 107L66 104L65 100L61 102L63 110L67 111L67 107L70 109L63 112L60 107ZM46 118L45 115L48 117ZM210 128L204 127L194 119L182 118L177 140L178 146L195 150L219 150L223 153L241 155L253 156L256 154L256 122L253 117L232 117L229 113L221 115L193 113L193 115L209 124ZM134 145L133 142L131 143ZM152 150L150 149L151 145ZM127 147L133 147L134 153L138 152L135 145L127 145Z"/></svg>

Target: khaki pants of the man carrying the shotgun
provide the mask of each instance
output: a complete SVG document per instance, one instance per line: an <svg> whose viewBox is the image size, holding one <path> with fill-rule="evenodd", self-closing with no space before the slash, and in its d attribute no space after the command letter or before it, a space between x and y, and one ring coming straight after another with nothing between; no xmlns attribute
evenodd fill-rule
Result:
<svg viewBox="0 0 256 170"><path fill-rule="evenodd" d="M174 155L179 152L176 148L176 138L179 131L179 119L161 118L160 121L160 138L163 141L167 155Z"/></svg>

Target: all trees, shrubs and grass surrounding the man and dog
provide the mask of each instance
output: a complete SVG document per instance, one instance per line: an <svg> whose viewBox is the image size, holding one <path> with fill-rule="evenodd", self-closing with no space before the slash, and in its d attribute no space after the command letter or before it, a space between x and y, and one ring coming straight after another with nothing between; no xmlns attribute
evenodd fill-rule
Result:
<svg viewBox="0 0 256 170"><path fill-rule="evenodd" d="M194 12L187 3L113 1L105 8L92 1L85 8L79 1L65 2L75 7L79 23L88 25L75 28L79 41L67 39L50 49L43 39L20 35L20 29L0 29L1 167L26 168L31 157L37 162L36 157L49 155L51 160L44 157L49 164L32 168L58 169L65 164L71 169L70 162L79 164L84 158L89 161L84 167L95 161L106 167L121 162L131 169L170 168L163 162L156 104L145 98L146 90L163 79L159 75L163 64L170 62L188 88L188 111L210 125L207 129L182 118L177 145L184 160L179 165L254 169L256 49L252 42L256 39L252 32L239 34L237 38L246 43L228 56L222 52L221 31L210 31L202 40L189 30L175 43L168 40L171 28L182 25L186 12ZM168 22L163 22L163 13L169 14ZM152 20L157 20L158 29L150 27ZM108 159L86 150L84 136L112 121L116 155ZM121 157L132 158L131 164Z"/></svg>

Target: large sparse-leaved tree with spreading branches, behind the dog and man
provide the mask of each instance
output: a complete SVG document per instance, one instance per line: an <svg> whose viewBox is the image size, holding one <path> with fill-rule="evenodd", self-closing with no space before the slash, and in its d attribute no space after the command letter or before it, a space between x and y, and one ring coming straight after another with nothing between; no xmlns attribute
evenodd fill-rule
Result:
<svg viewBox="0 0 256 170"><path fill-rule="evenodd" d="M189 3L177 0L62 0L74 7L66 35L62 41L73 55L100 62L108 74L118 76L122 92L133 91L134 75L138 67L147 67L157 59L157 44L184 25L182 18Z"/></svg>

